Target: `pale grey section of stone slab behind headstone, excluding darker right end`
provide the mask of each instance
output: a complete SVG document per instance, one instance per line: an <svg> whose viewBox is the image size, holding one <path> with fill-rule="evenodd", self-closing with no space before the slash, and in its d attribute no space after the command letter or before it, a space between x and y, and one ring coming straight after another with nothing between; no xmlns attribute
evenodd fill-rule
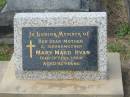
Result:
<svg viewBox="0 0 130 97"><path fill-rule="evenodd" d="M7 0L7 10L43 11L43 10L78 10L80 0Z"/></svg>

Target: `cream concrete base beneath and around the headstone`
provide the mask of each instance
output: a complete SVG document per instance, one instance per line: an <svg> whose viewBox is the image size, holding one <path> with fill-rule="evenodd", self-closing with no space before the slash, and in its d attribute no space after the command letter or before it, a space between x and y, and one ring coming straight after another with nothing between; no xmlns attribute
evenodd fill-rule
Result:
<svg viewBox="0 0 130 97"><path fill-rule="evenodd" d="M0 97L123 97L120 56L108 54L109 80L17 80L13 59L0 84Z"/></svg>

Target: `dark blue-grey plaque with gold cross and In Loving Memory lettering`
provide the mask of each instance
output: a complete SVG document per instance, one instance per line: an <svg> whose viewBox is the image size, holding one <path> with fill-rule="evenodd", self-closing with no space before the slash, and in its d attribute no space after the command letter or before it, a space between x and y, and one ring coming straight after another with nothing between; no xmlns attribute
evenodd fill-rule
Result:
<svg viewBox="0 0 130 97"><path fill-rule="evenodd" d="M24 27L24 70L97 70L97 27Z"/></svg>

